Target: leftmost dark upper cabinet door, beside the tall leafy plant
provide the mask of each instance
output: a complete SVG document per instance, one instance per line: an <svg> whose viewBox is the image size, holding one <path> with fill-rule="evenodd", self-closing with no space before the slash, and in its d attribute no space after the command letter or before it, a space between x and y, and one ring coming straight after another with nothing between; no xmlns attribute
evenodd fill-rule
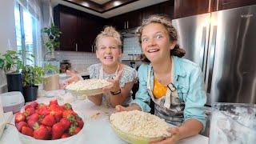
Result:
<svg viewBox="0 0 256 144"><path fill-rule="evenodd" d="M75 14L60 12L60 50L75 51L77 38L78 18Z"/></svg>

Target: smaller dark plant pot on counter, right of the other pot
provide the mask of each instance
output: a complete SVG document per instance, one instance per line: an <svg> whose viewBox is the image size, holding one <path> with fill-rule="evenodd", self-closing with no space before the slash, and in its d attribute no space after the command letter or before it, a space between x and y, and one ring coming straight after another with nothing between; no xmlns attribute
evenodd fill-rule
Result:
<svg viewBox="0 0 256 144"><path fill-rule="evenodd" d="M32 102L38 98L38 86L25 86L23 87L23 96L25 102Z"/></svg>

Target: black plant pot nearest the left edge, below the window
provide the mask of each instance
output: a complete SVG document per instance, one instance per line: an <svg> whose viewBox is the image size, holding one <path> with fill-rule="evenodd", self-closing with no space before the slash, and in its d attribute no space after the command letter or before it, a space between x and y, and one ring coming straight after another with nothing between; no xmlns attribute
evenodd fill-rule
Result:
<svg viewBox="0 0 256 144"><path fill-rule="evenodd" d="M6 74L8 91L22 92L22 74Z"/></svg>

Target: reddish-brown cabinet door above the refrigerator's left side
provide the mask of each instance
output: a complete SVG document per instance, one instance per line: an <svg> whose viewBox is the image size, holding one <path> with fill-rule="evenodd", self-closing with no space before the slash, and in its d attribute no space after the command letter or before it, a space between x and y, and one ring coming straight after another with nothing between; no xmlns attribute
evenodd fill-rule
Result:
<svg viewBox="0 0 256 144"><path fill-rule="evenodd" d="M183 18L209 11L209 0L174 0L174 18Z"/></svg>

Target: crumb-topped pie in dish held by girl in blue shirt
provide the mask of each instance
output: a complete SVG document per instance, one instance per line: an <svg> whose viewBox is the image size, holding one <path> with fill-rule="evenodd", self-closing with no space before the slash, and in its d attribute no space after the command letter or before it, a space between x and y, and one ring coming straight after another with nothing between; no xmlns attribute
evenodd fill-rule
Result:
<svg viewBox="0 0 256 144"><path fill-rule="evenodd" d="M110 115L114 133L126 142L149 143L168 138L170 125L153 114L139 110L122 111Z"/></svg>

